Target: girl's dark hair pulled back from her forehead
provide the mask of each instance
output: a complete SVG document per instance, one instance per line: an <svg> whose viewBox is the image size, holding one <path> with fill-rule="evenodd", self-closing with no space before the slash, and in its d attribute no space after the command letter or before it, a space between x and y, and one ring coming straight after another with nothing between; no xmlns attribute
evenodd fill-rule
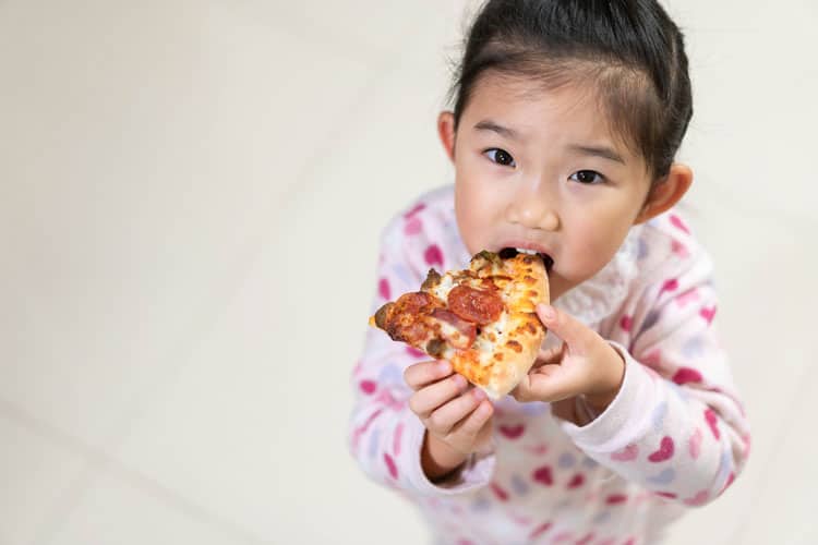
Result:
<svg viewBox="0 0 818 545"><path fill-rule="evenodd" d="M489 0L449 90L455 129L490 72L544 89L596 82L614 134L654 181L667 174L693 116L684 36L655 0Z"/></svg>

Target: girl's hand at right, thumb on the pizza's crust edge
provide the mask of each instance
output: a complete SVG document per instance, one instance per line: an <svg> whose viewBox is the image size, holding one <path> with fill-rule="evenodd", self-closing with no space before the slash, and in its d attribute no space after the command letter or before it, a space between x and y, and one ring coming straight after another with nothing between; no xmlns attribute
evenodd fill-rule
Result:
<svg viewBox="0 0 818 545"><path fill-rule="evenodd" d="M604 411L619 391L625 361L597 331L565 312L540 304L537 315L563 344L552 353L541 353L512 396L517 401L553 403L582 395L591 408Z"/></svg>

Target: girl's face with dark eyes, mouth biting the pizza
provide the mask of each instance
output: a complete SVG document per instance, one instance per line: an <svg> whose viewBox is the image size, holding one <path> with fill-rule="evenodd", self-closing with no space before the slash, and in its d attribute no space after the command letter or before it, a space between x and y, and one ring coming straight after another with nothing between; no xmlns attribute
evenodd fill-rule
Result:
<svg viewBox="0 0 818 545"><path fill-rule="evenodd" d="M543 92L486 76L457 134L438 129L455 165L455 213L472 254L522 247L548 254L551 299L596 275L640 216L645 161L612 134L593 93Z"/></svg>

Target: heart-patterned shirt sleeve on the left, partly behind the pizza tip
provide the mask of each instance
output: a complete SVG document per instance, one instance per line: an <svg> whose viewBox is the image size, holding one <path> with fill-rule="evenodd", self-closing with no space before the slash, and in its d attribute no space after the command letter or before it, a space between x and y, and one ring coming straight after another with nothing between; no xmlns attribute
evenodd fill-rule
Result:
<svg viewBox="0 0 818 545"><path fill-rule="evenodd" d="M418 291L430 266L443 268L445 243L432 240L423 214L395 218L384 230L377 266L377 288L371 313L402 293ZM426 217L426 222L431 220ZM409 226L409 227L407 227ZM411 412L412 393L404 371L430 360L406 343L393 341L371 327L352 373L354 407L349 421L349 449L361 469L375 482L410 496L455 495L485 486L493 473L494 456L472 456L446 482L432 483L420 462L425 428Z"/></svg>

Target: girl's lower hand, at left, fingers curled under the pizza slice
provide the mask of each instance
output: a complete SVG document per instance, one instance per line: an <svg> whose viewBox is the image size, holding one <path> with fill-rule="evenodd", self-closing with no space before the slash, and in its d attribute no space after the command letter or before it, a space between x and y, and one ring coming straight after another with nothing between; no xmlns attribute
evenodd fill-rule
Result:
<svg viewBox="0 0 818 545"><path fill-rule="evenodd" d="M428 431L423 451L430 477L454 470L489 444L494 408L482 389L453 373L450 363L416 363L407 367L404 379L414 390L409 408Z"/></svg>

